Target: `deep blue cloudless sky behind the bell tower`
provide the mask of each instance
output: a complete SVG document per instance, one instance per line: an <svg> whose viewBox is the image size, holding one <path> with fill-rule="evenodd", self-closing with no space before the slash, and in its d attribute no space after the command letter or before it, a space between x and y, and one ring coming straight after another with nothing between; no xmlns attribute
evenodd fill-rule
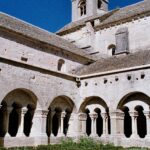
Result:
<svg viewBox="0 0 150 150"><path fill-rule="evenodd" d="M109 9L142 0L109 0ZM71 22L71 0L0 0L0 11L50 32Z"/></svg>

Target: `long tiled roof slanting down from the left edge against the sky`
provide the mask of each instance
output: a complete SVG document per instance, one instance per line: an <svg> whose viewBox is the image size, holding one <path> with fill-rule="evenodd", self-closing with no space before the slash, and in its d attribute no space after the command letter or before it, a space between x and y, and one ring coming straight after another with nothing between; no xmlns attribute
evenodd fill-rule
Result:
<svg viewBox="0 0 150 150"><path fill-rule="evenodd" d="M93 61L93 59L86 56L81 49L62 39L58 35L40 29L4 13L0 13L0 28L10 30L25 37L40 41L41 43L52 45L57 49L63 50L63 52L71 53L71 55L76 55L76 58L82 59L82 62L85 64Z"/></svg>

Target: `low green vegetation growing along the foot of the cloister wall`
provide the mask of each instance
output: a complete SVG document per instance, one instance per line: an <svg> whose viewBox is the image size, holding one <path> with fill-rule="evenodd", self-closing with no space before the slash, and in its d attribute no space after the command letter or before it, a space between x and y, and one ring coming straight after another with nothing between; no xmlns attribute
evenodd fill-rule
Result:
<svg viewBox="0 0 150 150"><path fill-rule="evenodd" d="M62 140L61 144L38 146L38 147L20 147L20 148L0 148L0 150L150 150L148 148L123 148L115 147L113 144L103 145L92 139L83 138L79 142L73 142L72 139Z"/></svg>

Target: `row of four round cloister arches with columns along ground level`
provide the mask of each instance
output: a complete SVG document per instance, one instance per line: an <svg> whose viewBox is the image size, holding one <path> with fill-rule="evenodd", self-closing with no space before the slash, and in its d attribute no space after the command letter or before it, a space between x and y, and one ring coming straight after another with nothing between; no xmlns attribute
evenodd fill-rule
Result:
<svg viewBox="0 0 150 150"><path fill-rule="evenodd" d="M124 96L114 112L98 96L87 97L79 108L64 95L54 98L48 110L41 111L37 105L38 99L31 91L16 89L8 93L1 102L0 137L38 134L47 134L47 138L72 137L77 124L78 136L106 138L114 133L127 139L150 136L150 98L140 92Z"/></svg>

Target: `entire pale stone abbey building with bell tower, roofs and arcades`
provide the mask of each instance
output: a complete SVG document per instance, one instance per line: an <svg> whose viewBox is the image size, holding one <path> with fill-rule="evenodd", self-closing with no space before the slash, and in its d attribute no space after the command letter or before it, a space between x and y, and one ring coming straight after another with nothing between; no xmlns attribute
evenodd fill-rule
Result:
<svg viewBox="0 0 150 150"><path fill-rule="evenodd" d="M0 13L1 146L150 146L150 0L108 5L72 0L56 34Z"/></svg>

